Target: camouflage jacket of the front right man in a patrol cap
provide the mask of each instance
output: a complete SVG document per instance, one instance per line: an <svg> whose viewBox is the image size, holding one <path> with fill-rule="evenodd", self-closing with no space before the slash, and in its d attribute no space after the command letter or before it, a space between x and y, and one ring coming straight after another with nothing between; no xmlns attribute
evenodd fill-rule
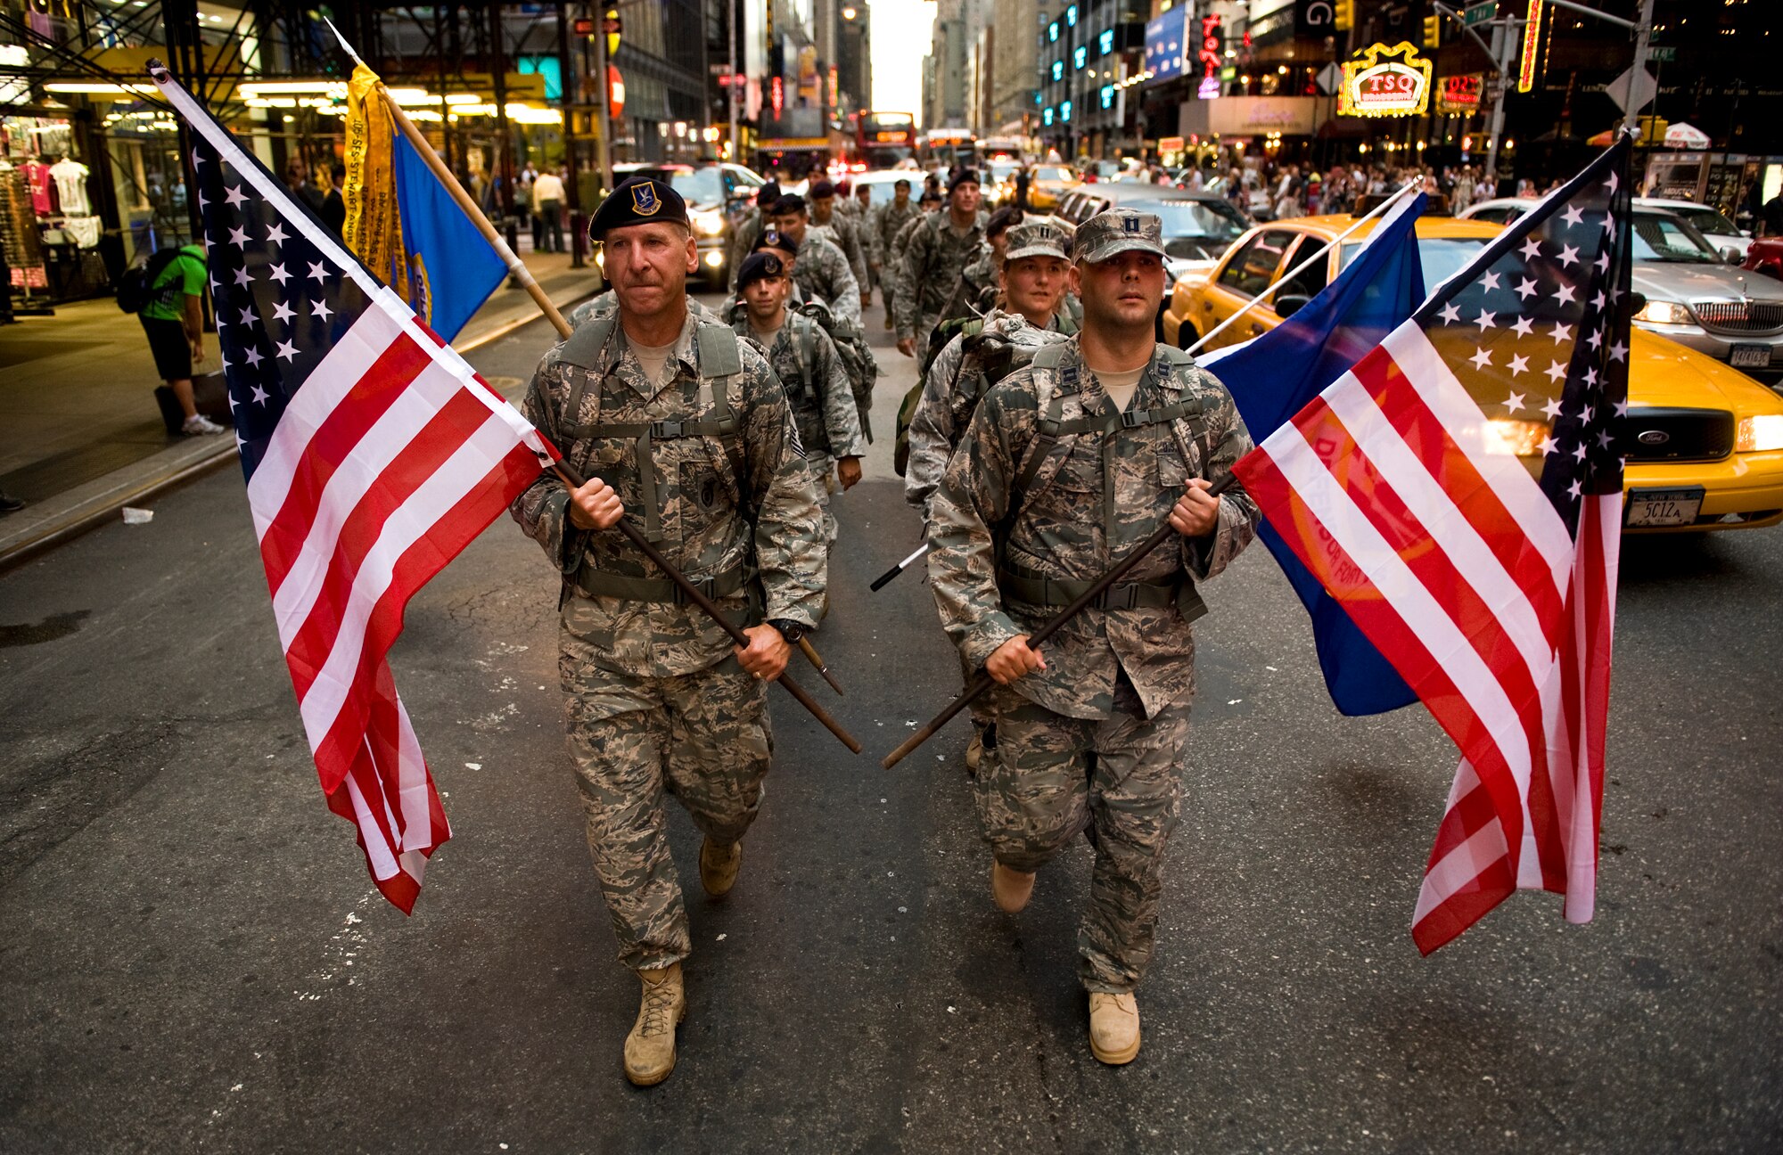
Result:
<svg viewBox="0 0 1783 1155"><path fill-rule="evenodd" d="M1056 365L1043 364L1054 356ZM1122 421L1161 414L1177 417L1134 428ZM1064 431L1048 446L1047 421L1095 428ZM1088 586L1166 524L1189 478L1223 478L1250 447L1225 387L1163 344L1127 414L1113 410L1075 337L993 385L929 503L929 578L941 624L966 665L981 668L998 645L1038 629L1063 608L1064 594ZM1043 456L1034 458L1036 451ZM1023 476L1025 492L1015 494ZM1013 688L1059 715L1107 718L1125 670L1146 717L1187 704L1195 695L1189 620L1202 606L1180 583L1218 574L1255 529L1257 504L1234 485L1220 499L1211 535L1166 542L1122 583L1150 586L1134 592L1163 592L1168 602L1086 610L1041 647L1047 668ZM1039 585L1048 597L1029 601L1025 592Z"/></svg>

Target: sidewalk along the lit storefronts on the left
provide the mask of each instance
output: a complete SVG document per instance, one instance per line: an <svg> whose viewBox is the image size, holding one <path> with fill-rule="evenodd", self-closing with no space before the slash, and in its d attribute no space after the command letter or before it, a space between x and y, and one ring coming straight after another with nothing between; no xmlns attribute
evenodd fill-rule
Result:
<svg viewBox="0 0 1783 1155"><path fill-rule="evenodd" d="M522 260L563 312L594 291L592 264L571 269L567 253ZM544 315L531 296L503 285L453 346L469 351L533 321ZM207 335L200 371L216 365L216 348ZM228 435L166 435L159 383L143 326L111 298L0 326L0 490L29 503L0 517L0 567L234 460Z"/></svg>

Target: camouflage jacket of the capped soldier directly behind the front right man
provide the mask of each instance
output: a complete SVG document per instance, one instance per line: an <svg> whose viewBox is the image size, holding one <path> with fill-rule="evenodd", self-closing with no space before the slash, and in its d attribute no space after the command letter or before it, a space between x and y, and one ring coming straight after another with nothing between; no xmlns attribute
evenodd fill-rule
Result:
<svg viewBox="0 0 1783 1155"><path fill-rule="evenodd" d="M1000 380L998 360L1007 362L1009 346L1038 349L1075 333L1077 326L1054 314L1047 328L1036 328L1022 314L993 310L977 333L959 333L929 365L922 399L909 419L909 463L904 467L904 501L927 515L929 497L941 485L947 458L954 456L959 435L984 392Z"/></svg>

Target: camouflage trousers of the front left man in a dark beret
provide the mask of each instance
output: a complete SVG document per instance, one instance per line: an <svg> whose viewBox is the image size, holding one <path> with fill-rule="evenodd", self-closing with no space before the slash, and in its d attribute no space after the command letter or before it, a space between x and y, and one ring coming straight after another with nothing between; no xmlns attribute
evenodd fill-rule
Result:
<svg viewBox="0 0 1783 1155"><path fill-rule="evenodd" d="M736 658L679 677L633 677L565 654L560 674L588 852L619 962L669 966L692 943L665 795L713 841L744 836L774 750L767 683L744 674Z"/></svg>

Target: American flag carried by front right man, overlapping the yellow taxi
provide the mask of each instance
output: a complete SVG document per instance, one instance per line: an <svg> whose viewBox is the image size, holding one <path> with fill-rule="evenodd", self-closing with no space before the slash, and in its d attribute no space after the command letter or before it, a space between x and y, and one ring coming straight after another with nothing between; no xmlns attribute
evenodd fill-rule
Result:
<svg viewBox="0 0 1783 1155"><path fill-rule="evenodd" d="M1514 889L1592 914L1628 198L1624 139L1234 469L1460 747L1412 918L1425 954Z"/></svg>

